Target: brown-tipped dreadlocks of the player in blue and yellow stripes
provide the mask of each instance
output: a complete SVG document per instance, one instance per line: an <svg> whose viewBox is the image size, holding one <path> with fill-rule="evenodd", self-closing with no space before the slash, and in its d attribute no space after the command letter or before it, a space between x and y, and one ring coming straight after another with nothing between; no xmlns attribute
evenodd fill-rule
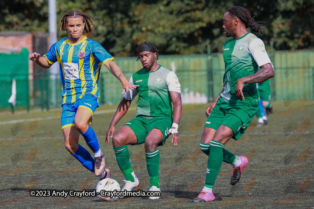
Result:
<svg viewBox="0 0 314 209"><path fill-rule="evenodd" d="M68 23L68 18L70 18L70 17L81 18L83 20L83 23L84 23L84 20L86 21L88 29L86 28L86 24L85 24L84 34L85 34L85 36L87 36L89 38L89 34L94 31L94 28L92 26L92 24L94 24L94 21L91 18L89 18L89 16L87 14L84 14L84 13L81 13L81 12L78 12L78 11L72 11L72 12L69 12L69 13L65 13L63 15L63 17L61 18L62 25L60 27L60 30L68 31L68 29L66 28L66 24ZM90 22L89 22L89 20L90 20Z"/></svg>

